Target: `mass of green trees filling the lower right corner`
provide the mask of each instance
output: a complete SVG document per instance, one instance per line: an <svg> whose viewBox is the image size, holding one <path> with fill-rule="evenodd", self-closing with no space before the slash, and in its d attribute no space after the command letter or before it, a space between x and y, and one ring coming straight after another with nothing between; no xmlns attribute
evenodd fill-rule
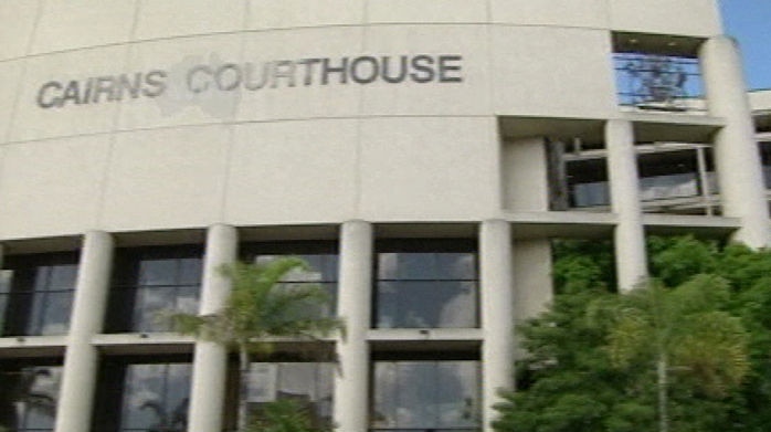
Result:
<svg viewBox="0 0 771 432"><path fill-rule="evenodd" d="M609 244L556 247L557 295L519 326L529 357L497 431L657 430L657 352L672 431L768 429L771 253L687 236L651 239L648 252L657 282L620 296Z"/></svg>

